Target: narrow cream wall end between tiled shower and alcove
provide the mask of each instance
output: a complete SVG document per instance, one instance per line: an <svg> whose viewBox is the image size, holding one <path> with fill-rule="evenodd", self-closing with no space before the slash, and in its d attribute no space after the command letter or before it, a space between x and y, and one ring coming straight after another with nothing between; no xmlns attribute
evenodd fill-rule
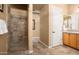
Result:
<svg viewBox="0 0 79 59"><path fill-rule="evenodd" d="M33 42L32 42L32 36L33 36L33 30L32 30L32 20L33 20L33 5L30 4L28 8L28 48L29 53L33 52Z"/></svg>

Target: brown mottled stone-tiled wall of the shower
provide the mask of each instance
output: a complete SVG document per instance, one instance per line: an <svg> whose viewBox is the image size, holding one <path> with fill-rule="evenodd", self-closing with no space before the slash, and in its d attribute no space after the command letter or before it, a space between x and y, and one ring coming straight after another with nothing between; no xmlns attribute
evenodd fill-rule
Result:
<svg viewBox="0 0 79 59"><path fill-rule="evenodd" d="M9 50L25 50L28 47L28 19L27 11L19 9L10 10Z"/></svg>

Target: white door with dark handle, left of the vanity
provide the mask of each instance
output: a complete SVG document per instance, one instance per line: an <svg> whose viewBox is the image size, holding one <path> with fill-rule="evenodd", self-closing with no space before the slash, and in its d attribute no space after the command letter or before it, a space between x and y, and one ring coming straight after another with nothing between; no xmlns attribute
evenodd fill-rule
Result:
<svg viewBox="0 0 79 59"><path fill-rule="evenodd" d="M52 32L51 32L51 46L58 46L62 44L62 26L63 14L62 9L53 7L52 10Z"/></svg>

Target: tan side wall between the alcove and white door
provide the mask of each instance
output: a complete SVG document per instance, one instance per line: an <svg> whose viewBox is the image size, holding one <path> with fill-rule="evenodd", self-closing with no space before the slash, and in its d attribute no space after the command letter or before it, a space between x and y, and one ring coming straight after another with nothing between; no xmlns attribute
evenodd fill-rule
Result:
<svg viewBox="0 0 79 59"><path fill-rule="evenodd" d="M45 5L40 11L40 40L49 46L49 6Z"/></svg>

